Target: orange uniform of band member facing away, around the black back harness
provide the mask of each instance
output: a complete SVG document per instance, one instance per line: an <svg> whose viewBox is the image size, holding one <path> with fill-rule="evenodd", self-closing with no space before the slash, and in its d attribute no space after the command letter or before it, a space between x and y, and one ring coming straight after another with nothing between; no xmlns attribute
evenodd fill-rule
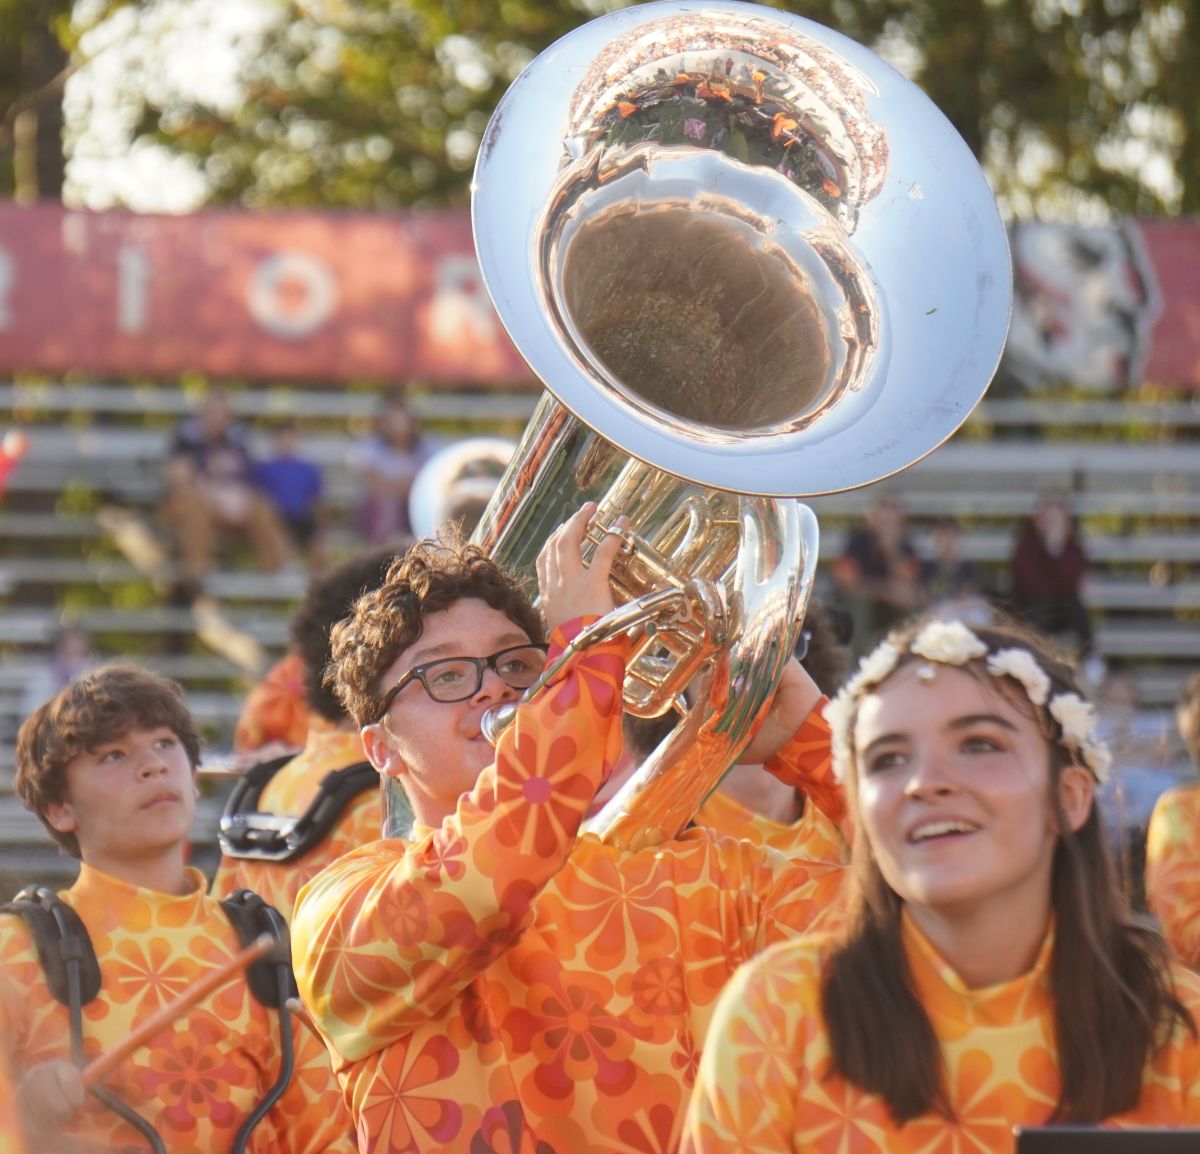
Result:
<svg viewBox="0 0 1200 1154"><path fill-rule="evenodd" d="M266 813L299 817L308 809L326 774L365 759L358 733L311 729L304 751L266 783L258 807ZM222 858L212 892L226 897L236 889L253 890L290 921L296 894L305 882L342 854L378 841L382 835L383 803L378 789L368 789L346 807L337 824L302 858L281 863Z"/></svg>

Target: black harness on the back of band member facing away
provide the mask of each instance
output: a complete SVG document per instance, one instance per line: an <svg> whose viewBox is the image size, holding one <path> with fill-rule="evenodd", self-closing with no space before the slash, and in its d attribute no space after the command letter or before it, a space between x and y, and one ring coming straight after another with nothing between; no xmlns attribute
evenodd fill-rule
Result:
<svg viewBox="0 0 1200 1154"><path fill-rule="evenodd" d="M360 794L379 785L370 762L359 762L326 774L317 795L299 817L281 817L258 809L266 783L292 761L292 756L262 762L246 770L234 786L217 840L227 858L250 861L295 861L314 849L334 828L346 807Z"/></svg>

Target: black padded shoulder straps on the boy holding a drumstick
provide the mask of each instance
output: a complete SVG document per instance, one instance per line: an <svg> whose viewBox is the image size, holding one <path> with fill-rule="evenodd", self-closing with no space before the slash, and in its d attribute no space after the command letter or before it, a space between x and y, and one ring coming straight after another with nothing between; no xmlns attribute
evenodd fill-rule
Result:
<svg viewBox="0 0 1200 1154"><path fill-rule="evenodd" d="M292 975L292 942L287 922L274 906L268 906L250 890L236 890L221 902L229 924L238 932L242 946L269 933L276 943L265 957L254 962L246 973L251 993L271 1009L278 1009L289 997L295 997ZM100 993L100 963L91 944L88 927L79 915L47 885L26 885L0 912L25 919L37 958L46 974L50 993L64 1005L71 1004L71 962L79 964L79 1004L86 1005ZM281 992L278 968L286 967L287 988Z"/></svg>

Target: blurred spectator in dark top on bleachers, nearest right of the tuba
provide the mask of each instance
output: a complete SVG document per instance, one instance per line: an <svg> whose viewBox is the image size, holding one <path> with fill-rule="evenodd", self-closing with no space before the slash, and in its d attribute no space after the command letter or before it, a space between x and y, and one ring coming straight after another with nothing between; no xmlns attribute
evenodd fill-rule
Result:
<svg viewBox="0 0 1200 1154"><path fill-rule="evenodd" d="M851 533L834 560L833 579L854 620L857 653L917 606L920 561L899 501L884 497L870 507L863 528Z"/></svg>

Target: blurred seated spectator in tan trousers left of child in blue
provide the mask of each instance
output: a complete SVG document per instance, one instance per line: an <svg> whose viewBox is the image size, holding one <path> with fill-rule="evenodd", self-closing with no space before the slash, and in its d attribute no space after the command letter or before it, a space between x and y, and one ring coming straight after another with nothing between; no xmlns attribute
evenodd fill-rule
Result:
<svg viewBox="0 0 1200 1154"><path fill-rule="evenodd" d="M184 567L180 595L193 600L212 569L214 552L228 536L244 536L264 572L289 555L275 507L254 483L245 428L229 397L210 392L199 413L175 433L164 470L167 492L158 516L179 546Z"/></svg>

